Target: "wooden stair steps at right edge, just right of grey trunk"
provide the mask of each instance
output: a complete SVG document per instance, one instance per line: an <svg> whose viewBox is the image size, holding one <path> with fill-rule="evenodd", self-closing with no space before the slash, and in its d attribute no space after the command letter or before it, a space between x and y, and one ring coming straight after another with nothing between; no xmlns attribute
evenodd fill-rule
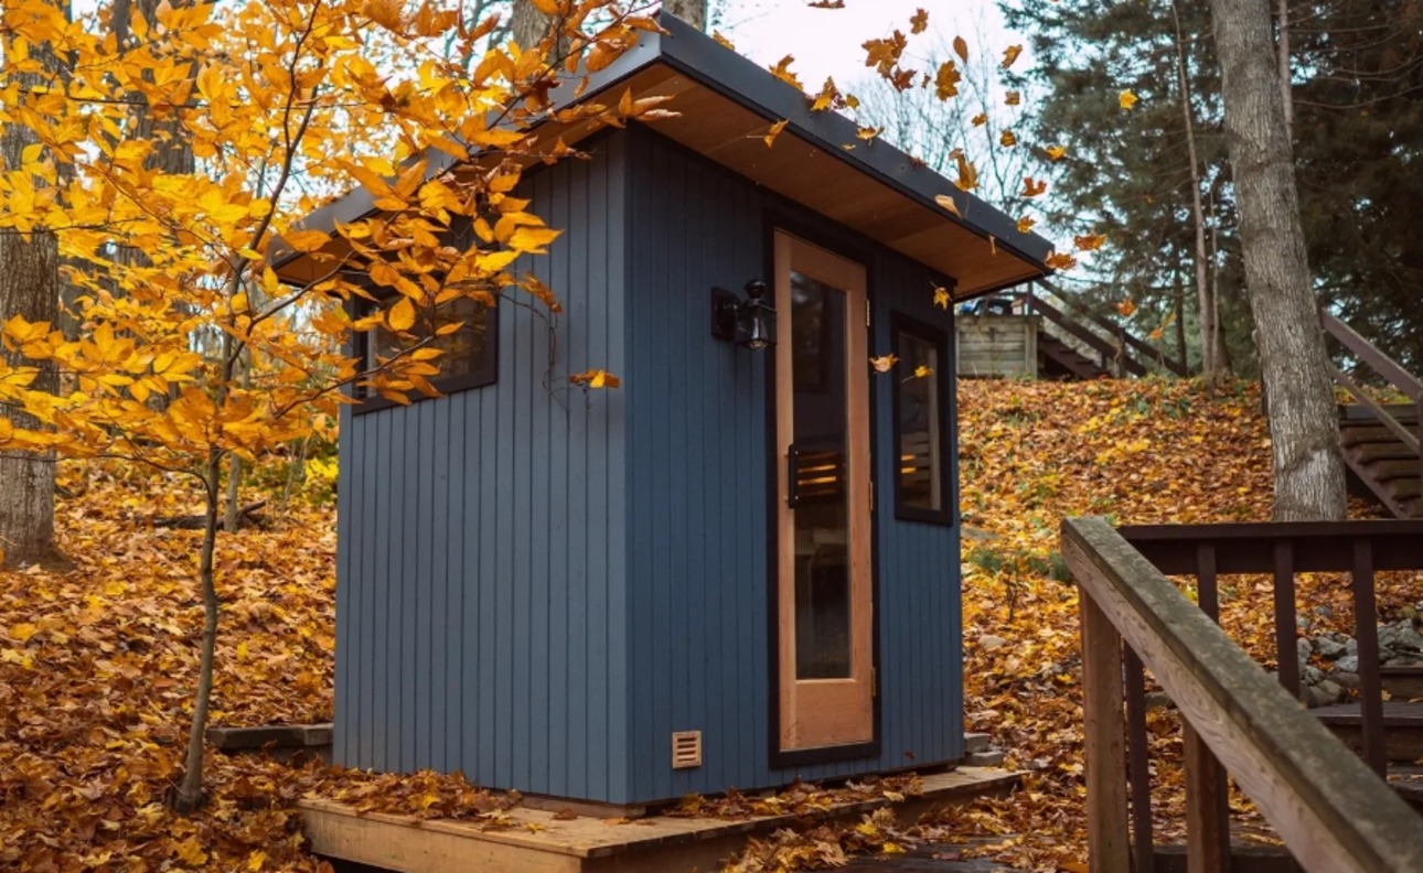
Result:
<svg viewBox="0 0 1423 873"><path fill-rule="evenodd" d="M1417 431L1413 404L1385 407L1385 411ZM1349 471L1372 498L1396 518L1423 518L1423 461L1393 428L1379 424L1377 414L1363 405L1339 407L1339 445Z"/></svg>

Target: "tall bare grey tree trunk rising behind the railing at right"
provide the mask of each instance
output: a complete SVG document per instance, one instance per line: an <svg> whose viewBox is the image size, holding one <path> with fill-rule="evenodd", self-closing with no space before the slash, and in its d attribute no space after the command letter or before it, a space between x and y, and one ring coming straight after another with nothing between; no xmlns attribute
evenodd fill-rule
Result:
<svg viewBox="0 0 1423 873"><path fill-rule="evenodd" d="M1345 518L1343 458L1266 0L1211 0L1245 283L1269 392L1276 520Z"/></svg>

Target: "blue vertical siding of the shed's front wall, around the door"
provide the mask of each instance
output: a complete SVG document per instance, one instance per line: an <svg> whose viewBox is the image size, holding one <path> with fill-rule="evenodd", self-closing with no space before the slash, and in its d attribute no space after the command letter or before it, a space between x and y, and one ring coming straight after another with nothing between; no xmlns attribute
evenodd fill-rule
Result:
<svg viewBox="0 0 1423 873"><path fill-rule="evenodd" d="M932 306L931 274L653 132L635 128L629 138L632 796L750 789L962 758L958 527L894 518L885 381L872 384L881 752L771 766L768 355L709 333L712 286L740 293L750 279L770 279L767 209L814 229L822 245L872 253L872 354L891 347L892 310L941 324L952 337L951 316ZM943 375L952 402L952 374ZM946 452L952 458L953 445ZM672 732L696 729L703 731L704 765L673 771Z"/></svg>

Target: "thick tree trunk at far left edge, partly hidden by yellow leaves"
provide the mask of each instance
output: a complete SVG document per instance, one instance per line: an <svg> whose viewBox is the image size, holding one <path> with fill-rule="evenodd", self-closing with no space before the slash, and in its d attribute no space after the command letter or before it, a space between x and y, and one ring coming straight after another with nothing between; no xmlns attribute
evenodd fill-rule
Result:
<svg viewBox="0 0 1423 873"><path fill-rule="evenodd" d="M6 50L9 54L9 47ZM43 77L23 74L23 85L38 87ZM0 168L18 171L34 132L18 124L0 125ZM36 181L38 185L43 182ZM58 320L60 246L53 233L36 230L30 239L0 232L0 321L23 316L27 321ZM6 351L13 367L34 365L18 353ZM58 375L53 363L40 364L34 388L54 392ZM18 411L0 412L14 427L33 429L40 422ZM58 559L54 547L54 455L6 452L0 455L0 549L3 566L14 567Z"/></svg>

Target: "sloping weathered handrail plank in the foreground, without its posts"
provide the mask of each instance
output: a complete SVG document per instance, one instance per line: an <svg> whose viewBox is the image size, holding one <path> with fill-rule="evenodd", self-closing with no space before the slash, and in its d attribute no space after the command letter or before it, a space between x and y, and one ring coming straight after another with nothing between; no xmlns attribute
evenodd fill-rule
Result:
<svg viewBox="0 0 1423 873"><path fill-rule="evenodd" d="M1106 520L1064 520L1063 555L1308 870L1423 869L1423 833L1407 805Z"/></svg>

